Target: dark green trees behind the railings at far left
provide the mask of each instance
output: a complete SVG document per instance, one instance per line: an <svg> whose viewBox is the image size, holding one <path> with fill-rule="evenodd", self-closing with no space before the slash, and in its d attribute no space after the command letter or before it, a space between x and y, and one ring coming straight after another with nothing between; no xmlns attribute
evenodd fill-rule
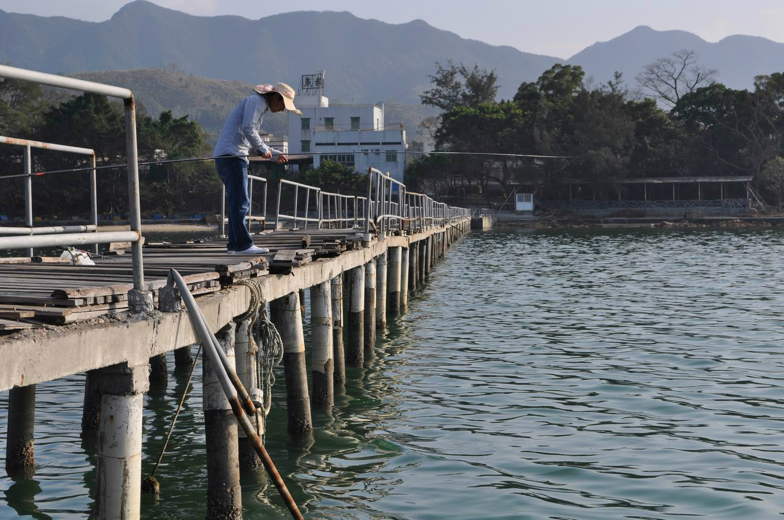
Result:
<svg viewBox="0 0 784 520"><path fill-rule="evenodd" d="M0 81L0 133L24 139L92 148L96 162L125 163L125 121L122 105L104 96L85 94L58 103L52 92L14 80ZM174 117L165 110L158 117L136 118L139 161L209 155L201 125L189 117ZM0 146L0 175L22 172L20 146ZM50 150L31 150L33 172L80 168L87 157ZM85 216L89 213L87 172L44 175L33 179L35 215L52 218ZM97 175L98 210L101 214L127 211L125 168L100 170ZM0 214L24 215L23 179L4 182ZM172 214L204 211L219 204L220 179L214 164L182 163L140 167L143 210Z"/></svg>

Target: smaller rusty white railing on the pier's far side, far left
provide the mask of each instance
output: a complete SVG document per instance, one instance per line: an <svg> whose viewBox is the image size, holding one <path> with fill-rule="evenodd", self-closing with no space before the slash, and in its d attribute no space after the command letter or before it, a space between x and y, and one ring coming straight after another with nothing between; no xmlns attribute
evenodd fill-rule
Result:
<svg viewBox="0 0 784 520"><path fill-rule="evenodd" d="M51 226L45 229L51 229L49 232L34 231L33 229L33 172L31 160L31 148L40 148L42 150L53 150L56 152L78 153L80 155L89 155L90 165L95 168L96 153L89 148L79 148L78 146L66 146L63 144L55 143L42 143L41 141L31 141L30 139L16 139L13 137L5 137L0 135L0 144L7 144L10 146L24 146L24 173L27 175L24 178L24 215L27 228L0 228L0 235L39 235L49 233L80 233L85 231L97 231L98 229L98 203L96 198L96 171L90 170L90 221L92 222L91 229L84 229L85 226ZM27 233L22 233L18 230L27 230ZM98 252L98 244L93 244L93 253ZM27 247L27 256L33 256L33 248Z"/></svg>

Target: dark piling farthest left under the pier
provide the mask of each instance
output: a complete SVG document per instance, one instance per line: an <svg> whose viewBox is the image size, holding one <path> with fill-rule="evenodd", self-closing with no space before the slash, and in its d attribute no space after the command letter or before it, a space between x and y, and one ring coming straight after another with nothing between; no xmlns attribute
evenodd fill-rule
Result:
<svg viewBox="0 0 784 520"><path fill-rule="evenodd" d="M35 385L11 388L8 393L8 426L5 433L5 472L32 478L34 450Z"/></svg>

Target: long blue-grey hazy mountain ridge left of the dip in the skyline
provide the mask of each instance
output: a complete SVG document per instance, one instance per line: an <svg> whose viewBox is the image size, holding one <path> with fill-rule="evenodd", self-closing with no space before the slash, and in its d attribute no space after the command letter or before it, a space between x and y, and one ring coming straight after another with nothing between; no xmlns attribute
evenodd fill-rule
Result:
<svg viewBox="0 0 784 520"><path fill-rule="evenodd" d="M263 9L259 9L263 13ZM0 11L0 63L52 73L166 67L189 74L296 88L326 70L326 95L343 102L419 103L436 61L496 69L510 97L557 61L460 38L423 20L390 24L350 13L297 12L248 20L191 16L137 0L99 23Z"/></svg>

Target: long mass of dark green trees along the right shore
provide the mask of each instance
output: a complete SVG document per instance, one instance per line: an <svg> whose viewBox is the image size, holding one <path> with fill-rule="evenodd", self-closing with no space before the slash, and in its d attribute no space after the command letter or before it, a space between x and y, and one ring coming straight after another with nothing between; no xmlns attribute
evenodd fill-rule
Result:
<svg viewBox="0 0 784 520"><path fill-rule="evenodd" d="M430 156L414 161L408 185L438 195L485 195L497 182L506 193L521 182L558 190L564 179L597 182L597 197L617 197L627 177L753 175L779 204L784 177L784 74L757 76L753 90L713 81L716 71L695 63L691 52L673 53L647 67L661 70L684 60L681 83L648 76L657 99L634 95L615 74L592 85L581 67L556 64L537 81L524 82L513 99L496 102L492 71L437 65L422 102L440 107L428 123L436 150L524 153L574 159ZM779 187L781 184L781 187ZM550 192L552 193L552 192Z"/></svg>

